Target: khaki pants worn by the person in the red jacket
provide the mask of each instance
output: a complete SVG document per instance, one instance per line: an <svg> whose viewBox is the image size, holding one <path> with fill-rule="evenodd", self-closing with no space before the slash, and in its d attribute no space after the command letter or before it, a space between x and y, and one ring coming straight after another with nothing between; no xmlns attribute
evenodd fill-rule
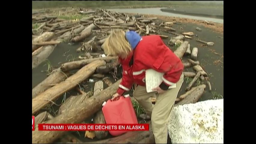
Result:
<svg viewBox="0 0 256 144"><path fill-rule="evenodd" d="M153 97L155 92L147 93L146 88L140 85L133 92L134 98L144 108L145 112L151 115L155 143L167 143L167 122L183 81L184 74L182 73L180 80L176 83L176 88L168 89L162 94L157 94L154 108L149 98Z"/></svg>

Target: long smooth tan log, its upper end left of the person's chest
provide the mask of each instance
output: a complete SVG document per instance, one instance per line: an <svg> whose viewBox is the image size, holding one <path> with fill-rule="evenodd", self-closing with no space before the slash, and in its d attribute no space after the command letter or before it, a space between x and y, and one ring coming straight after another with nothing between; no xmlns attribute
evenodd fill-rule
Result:
<svg viewBox="0 0 256 144"><path fill-rule="evenodd" d="M47 89L46 91L39 94L36 98L32 99L32 115L37 113L41 108L45 107L51 101L56 100L66 91L71 90L80 82L87 79L97 67L106 64L105 61L93 61L90 64L84 66L78 70L74 75L68 77L65 81Z"/></svg>

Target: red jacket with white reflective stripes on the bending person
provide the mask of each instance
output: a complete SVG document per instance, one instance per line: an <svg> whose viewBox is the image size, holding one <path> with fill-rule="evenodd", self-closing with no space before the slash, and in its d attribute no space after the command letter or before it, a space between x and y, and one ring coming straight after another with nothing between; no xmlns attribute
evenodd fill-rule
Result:
<svg viewBox="0 0 256 144"><path fill-rule="evenodd" d="M133 58L133 64L131 63ZM181 60L166 46L160 36L143 36L136 48L125 59L119 58L123 67L122 82L117 89L119 95L129 91L133 83L145 86L145 70L154 69L165 73L160 88L168 87L180 79L184 65Z"/></svg>

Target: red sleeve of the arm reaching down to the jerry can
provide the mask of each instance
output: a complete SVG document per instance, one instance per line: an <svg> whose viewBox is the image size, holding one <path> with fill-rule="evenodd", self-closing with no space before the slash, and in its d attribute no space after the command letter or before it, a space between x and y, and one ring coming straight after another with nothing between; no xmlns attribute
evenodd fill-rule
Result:
<svg viewBox="0 0 256 144"><path fill-rule="evenodd" d="M123 93L126 91L129 91L132 86L133 86L133 79L123 69L123 77L122 77L122 81L119 84L119 88L117 89L117 93L119 95L123 95Z"/></svg>

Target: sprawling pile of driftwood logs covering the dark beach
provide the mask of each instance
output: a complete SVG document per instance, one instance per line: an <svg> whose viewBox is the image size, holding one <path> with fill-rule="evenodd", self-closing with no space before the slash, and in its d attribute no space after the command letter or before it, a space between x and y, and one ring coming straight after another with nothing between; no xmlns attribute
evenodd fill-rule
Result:
<svg viewBox="0 0 256 144"><path fill-rule="evenodd" d="M41 22L37 29L32 29L32 68L37 67L53 51L54 47L64 41L82 42L78 52L85 52L81 60L63 63L59 68L53 70L49 76L32 89L32 115L36 116L38 123L81 123L92 116L94 123L105 123L101 112L102 103L107 101L116 92L121 79L112 83L104 73L113 71L119 66L117 57L105 56L102 53L101 45L110 34L111 29L134 30L141 35L160 34L160 31L170 32L177 36L172 37L169 45L179 43L174 53L182 59L184 55L190 56L183 61L185 67L193 67L197 72L184 72L186 77L194 77L188 84L186 93L178 96L176 105L195 103L203 95L206 85L193 87L198 78L204 79L207 73L197 61L198 49L190 49L186 38L193 36L190 32L183 34L174 33L171 26L176 22L155 23L156 17L129 16L125 13L110 12L106 10L90 10L77 13L87 14L83 19L73 21L58 19L57 16L45 16L43 13L32 15L33 22ZM89 16L88 16L89 15ZM178 23L176 23L178 24ZM89 41L88 37L92 37ZM161 38L168 36L160 35ZM78 70L71 75L69 71ZM97 77L92 96L81 89L81 84L90 77ZM107 88L103 88L103 84ZM209 82L207 82L209 84ZM209 84L210 85L210 84ZM53 117L48 112L41 110L48 104L55 104L64 93L75 89L81 95L71 96L59 107L58 114ZM154 99L154 98L153 98ZM41 112L41 113L39 113ZM72 135L65 135L65 131L38 131L37 124L32 132L33 143L52 143L61 138L66 142L80 142ZM134 131L123 134L119 137L104 140L108 135L107 131L86 131L88 138L97 137L102 139L93 143L152 143L154 137L150 131Z"/></svg>

